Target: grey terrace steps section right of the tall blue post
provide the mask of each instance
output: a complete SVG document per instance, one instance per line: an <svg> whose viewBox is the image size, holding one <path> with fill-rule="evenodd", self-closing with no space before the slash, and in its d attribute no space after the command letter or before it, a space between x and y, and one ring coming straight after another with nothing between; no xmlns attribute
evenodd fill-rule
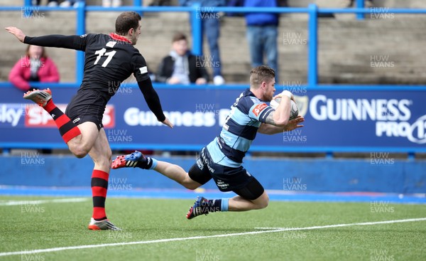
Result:
<svg viewBox="0 0 426 261"><path fill-rule="evenodd" d="M392 19L364 21L322 19L320 82L424 84L425 55L420 50L425 23L425 16L395 15ZM393 65L373 68L371 59L376 55L386 57Z"/></svg>

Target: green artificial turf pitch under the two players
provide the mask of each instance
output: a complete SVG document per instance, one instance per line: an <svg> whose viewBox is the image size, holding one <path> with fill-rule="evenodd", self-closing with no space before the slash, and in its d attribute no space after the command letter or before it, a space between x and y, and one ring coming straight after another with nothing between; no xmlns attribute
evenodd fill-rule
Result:
<svg viewBox="0 0 426 261"><path fill-rule="evenodd" d="M92 231L91 198L28 202L51 199L0 197L0 260L426 260L425 220L302 229L426 218L426 205L272 201L259 211L187 220L192 200L108 198L108 217L123 230ZM9 201L24 202L4 206ZM131 244L99 247L111 243Z"/></svg>

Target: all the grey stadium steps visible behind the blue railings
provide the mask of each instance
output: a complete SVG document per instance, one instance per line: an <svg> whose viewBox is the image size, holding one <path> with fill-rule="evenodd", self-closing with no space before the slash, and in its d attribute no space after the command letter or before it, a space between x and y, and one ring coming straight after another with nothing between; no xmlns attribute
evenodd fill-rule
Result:
<svg viewBox="0 0 426 261"><path fill-rule="evenodd" d="M297 1L289 1L292 6L304 6L310 1L300 1L298 5L295 2ZM89 1L88 4L90 3ZM391 7L402 5L398 1L391 0L381 3L388 3ZM403 6L419 7L421 4L421 1L412 0L404 1ZM425 5L426 3L422 7ZM114 29L116 15L117 12L87 14L87 32L109 33ZM8 11L2 12L1 17L2 25L17 26L30 36L47 33L75 34L74 12L49 12L42 18L25 19L21 18L21 12ZM184 13L146 13L142 24L142 34L136 48L145 56L150 70L156 70L161 58L169 53L173 33L182 31L190 35L188 14ZM423 33L425 27L424 15L398 14L392 19L366 18L364 21L346 16L320 18L318 34L320 82L424 84L426 59L422 50L426 38ZM284 41L286 33L293 33L293 38L305 42L286 43ZM26 48L6 34L4 32L1 37L7 51L0 57L0 80L7 80L11 67L21 58ZM307 41L306 15L285 14L280 17L278 35L280 83L306 82ZM244 18L228 16L222 18L219 45L224 78L228 82L247 82L251 66ZM206 41L204 50L205 55L209 55ZM75 52L48 48L48 54L58 65L62 82L74 81ZM393 61L395 66L371 68L371 55L388 55L388 59ZM208 70L211 72L211 68Z"/></svg>

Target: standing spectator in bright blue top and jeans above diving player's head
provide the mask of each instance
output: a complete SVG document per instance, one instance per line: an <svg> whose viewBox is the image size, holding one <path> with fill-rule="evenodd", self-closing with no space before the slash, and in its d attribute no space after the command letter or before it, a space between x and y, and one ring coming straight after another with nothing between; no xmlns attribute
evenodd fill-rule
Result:
<svg viewBox="0 0 426 261"><path fill-rule="evenodd" d="M246 7L277 7L276 0L245 0ZM251 57L251 67L263 65L263 54L269 67L275 71L275 82L278 81L278 14L246 13L247 41Z"/></svg>

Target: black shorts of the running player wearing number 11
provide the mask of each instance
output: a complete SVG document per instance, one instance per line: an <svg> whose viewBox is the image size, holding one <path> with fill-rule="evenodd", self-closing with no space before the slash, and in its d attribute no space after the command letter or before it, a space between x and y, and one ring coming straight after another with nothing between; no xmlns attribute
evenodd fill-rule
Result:
<svg viewBox="0 0 426 261"><path fill-rule="evenodd" d="M108 100L97 91L80 89L77 95L72 97L65 114L76 125L83 122L93 122L100 130L104 127L102 117L104 116L107 102Z"/></svg>

